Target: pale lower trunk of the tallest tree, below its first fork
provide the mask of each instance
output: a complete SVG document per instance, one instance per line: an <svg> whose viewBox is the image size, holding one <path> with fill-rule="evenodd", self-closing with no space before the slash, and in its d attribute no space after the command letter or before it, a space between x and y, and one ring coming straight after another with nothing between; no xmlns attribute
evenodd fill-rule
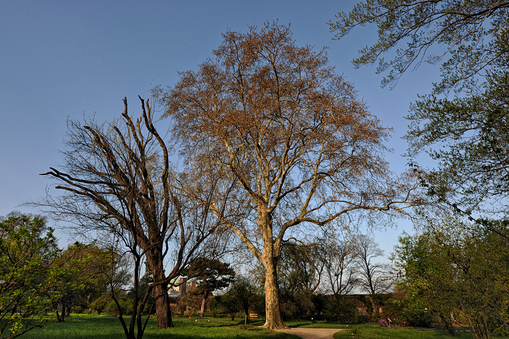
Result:
<svg viewBox="0 0 509 339"><path fill-rule="evenodd" d="M263 327L270 329L288 328L281 318L279 309L279 294L277 287L276 268L273 259L265 263L265 312L266 320Z"/></svg>

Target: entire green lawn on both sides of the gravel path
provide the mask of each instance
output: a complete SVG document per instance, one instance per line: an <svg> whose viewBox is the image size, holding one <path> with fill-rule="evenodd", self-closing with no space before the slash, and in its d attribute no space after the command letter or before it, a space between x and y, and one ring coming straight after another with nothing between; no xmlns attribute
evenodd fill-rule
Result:
<svg viewBox="0 0 509 339"><path fill-rule="evenodd" d="M274 332L267 329L242 329L242 320L205 317L203 319L174 318L175 328L157 329L155 318L151 319L145 332L145 339L298 339L291 334ZM255 326L263 325L263 320L252 321ZM456 336L447 336L440 331L418 330L412 328L382 328L373 324L342 324L327 321L288 321L290 327L345 328L337 332L335 339L470 339L470 333L458 332ZM23 339L122 339L124 332L116 317L107 315L72 315L65 323L50 321L42 329L35 329L21 336ZM501 337L493 337L501 338Z"/></svg>

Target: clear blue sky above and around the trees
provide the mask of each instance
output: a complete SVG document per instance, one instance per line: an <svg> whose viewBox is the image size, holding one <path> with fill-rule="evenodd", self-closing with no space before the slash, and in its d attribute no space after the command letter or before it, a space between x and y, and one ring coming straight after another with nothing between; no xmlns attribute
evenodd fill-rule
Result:
<svg viewBox="0 0 509 339"><path fill-rule="evenodd" d="M381 88L375 67L354 69L358 50L376 40L376 27L360 27L333 41L329 20L355 1L23 1L0 6L0 215L45 195L51 182L40 176L62 163L59 149L67 119L95 114L111 120L139 113L137 95L155 85L173 85L179 71L196 69L222 41L221 33L246 32L248 25L278 19L291 23L298 45L328 46L329 63L353 82L359 96L386 127L394 129L387 155L402 172L410 102L431 90L438 67L423 65L403 76L393 90ZM426 159L417 159L422 165ZM389 252L403 230L376 233ZM60 235L65 242L66 235Z"/></svg>

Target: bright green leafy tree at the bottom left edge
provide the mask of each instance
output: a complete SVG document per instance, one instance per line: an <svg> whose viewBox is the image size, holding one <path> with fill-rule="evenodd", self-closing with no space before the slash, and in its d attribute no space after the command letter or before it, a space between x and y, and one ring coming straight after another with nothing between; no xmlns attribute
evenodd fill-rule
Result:
<svg viewBox="0 0 509 339"><path fill-rule="evenodd" d="M15 213L0 218L0 337L14 338L42 327L47 311L69 287L73 268L56 264L60 256L53 229L44 219ZM71 286L73 287L73 286Z"/></svg>

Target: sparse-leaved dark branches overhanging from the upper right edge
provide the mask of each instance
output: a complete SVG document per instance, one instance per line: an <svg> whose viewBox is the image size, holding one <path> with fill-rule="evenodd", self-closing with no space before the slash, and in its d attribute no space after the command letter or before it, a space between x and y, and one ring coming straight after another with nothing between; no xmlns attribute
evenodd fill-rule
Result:
<svg viewBox="0 0 509 339"><path fill-rule="evenodd" d="M395 84L422 61L442 63L442 81L411 106L408 155L426 150L440 162L427 185L456 211L472 219L475 209L506 213L509 3L367 0L337 19L329 22L337 39L358 25L378 26L378 41L354 64L378 60L378 72L390 69L384 84ZM397 44L403 47L387 61L384 54ZM451 89L457 93L452 99ZM496 232L488 220L477 222Z"/></svg>

